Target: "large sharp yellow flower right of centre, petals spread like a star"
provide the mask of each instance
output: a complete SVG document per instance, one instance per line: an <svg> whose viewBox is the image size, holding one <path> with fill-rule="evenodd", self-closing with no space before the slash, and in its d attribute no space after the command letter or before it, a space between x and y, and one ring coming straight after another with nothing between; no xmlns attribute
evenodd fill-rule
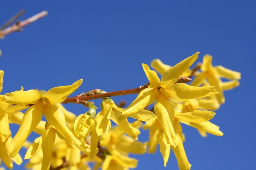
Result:
<svg viewBox="0 0 256 170"><path fill-rule="evenodd" d="M138 97L126 108L119 119L122 120L130 117L156 101L154 111L164 131L166 141L168 144L176 147L179 143L179 138L174 133L174 106L170 100L176 103L182 103L188 99L204 98L217 93L213 86L193 87L184 83L175 84L180 75L196 61L198 53L166 70L161 80L155 71L150 70L148 65L142 64L150 85L140 92Z"/></svg>

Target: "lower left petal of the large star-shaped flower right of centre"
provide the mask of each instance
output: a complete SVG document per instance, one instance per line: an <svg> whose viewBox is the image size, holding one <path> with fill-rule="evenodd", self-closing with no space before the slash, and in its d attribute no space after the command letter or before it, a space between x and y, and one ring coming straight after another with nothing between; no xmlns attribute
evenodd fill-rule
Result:
<svg viewBox="0 0 256 170"><path fill-rule="evenodd" d="M128 106L122 115L119 117L119 120L126 119L138 111L144 109L144 107L152 104L158 95L158 91L155 88L145 88L140 92L138 97Z"/></svg>

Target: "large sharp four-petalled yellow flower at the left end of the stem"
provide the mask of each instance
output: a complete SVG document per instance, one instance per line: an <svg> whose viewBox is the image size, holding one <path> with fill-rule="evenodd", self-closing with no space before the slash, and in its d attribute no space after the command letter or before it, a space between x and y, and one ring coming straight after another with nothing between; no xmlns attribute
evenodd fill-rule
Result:
<svg viewBox="0 0 256 170"><path fill-rule="evenodd" d="M5 94L6 102L16 105L33 105L25 113L20 128L10 143L10 157L14 157L28 135L40 123L42 115L63 135L72 147L82 145L66 126L64 113L54 104L63 102L72 92L82 84L82 79L70 86L59 86L48 90L45 94L38 90L16 91Z"/></svg>

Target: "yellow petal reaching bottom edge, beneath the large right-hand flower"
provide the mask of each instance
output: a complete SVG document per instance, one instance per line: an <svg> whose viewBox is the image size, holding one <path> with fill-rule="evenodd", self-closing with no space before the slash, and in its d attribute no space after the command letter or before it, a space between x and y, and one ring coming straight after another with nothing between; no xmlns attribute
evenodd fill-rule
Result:
<svg viewBox="0 0 256 170"><path fill-rule="evenodd" d="M173 146L171 147L178 161L179 169L190 170L191 164L188 162L180 135L178 135L178 138L180 139L178 145L175 148Z"/></svg>

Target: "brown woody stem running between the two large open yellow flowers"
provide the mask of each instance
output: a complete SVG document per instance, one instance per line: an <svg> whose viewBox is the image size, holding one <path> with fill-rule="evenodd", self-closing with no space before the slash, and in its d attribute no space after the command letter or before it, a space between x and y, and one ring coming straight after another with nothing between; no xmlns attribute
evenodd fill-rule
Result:
<svg viewBox="0 0 256 170"><path fill-rule="evenodd" d="M138 88L134 89L128 89L128 90L119 90L119 91L114 91L114 92L106 92L102 94L95 94L95 95L90 95L90 96L76 96L76 97L71 97L71 98L66 98L64 102L62 103L78 103L81 100L88 101L88 100L94 100L94 99L100 99L100 98L106 98L106 97L112 97L112 96L121 96L121 95L126 95L126 94L138 94L140 93L143 89L148 88L149 83L145 84L144 86L140 86Z"/></svg>

